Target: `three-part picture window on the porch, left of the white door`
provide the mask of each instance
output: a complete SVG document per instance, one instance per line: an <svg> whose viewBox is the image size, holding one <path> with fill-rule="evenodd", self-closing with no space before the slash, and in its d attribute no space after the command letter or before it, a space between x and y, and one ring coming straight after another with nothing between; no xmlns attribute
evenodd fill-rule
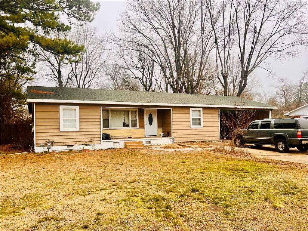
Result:
<svg viewBox="0 0 308 231"><path fill-rule="evenodd" d="M102 109L103 128L137 128L137 110Z"/></svg>

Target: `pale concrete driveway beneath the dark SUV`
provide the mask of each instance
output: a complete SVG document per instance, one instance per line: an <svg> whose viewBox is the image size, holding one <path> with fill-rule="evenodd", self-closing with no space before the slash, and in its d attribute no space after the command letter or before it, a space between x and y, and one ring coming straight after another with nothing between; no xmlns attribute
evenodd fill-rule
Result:
<svg viewBox="0 0 308 231"><path fill-rule="evenodd" d="M297 148L290 148L288 153L276 152L275 147L270 145L263 145L258 148L254 145L247 145L246 148L253 156L308 164L308 151L300 152Z"/></svg>

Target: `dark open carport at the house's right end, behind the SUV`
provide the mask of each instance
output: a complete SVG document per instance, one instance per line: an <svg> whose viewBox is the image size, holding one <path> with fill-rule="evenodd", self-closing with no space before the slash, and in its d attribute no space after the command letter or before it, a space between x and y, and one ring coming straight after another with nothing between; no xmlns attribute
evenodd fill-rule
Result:
<svg viewBox="0 0 308 231"><path fill-rule="evenodd" d="M220 126L220 139L229 139L229 126L228 124L238 123L242 118L246 121L244 124L250 124L253 120L260 120L271 118L271 109L219 109L219 126ZM232 121L234 120L234 121ZM232 131L233 132L233 131Z"/></svg>

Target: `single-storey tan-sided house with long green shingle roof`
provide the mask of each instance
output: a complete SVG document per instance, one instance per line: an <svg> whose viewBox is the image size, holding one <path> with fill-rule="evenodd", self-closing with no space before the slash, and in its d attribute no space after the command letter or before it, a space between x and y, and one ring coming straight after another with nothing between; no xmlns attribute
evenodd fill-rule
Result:
<svg viewBox="0 0 308 231"><path fill-rule="evenodd" d="M236 96L34 86L27 101L36 152L218 141L221 111L241 107L261 119L276 108Z"/></svg>

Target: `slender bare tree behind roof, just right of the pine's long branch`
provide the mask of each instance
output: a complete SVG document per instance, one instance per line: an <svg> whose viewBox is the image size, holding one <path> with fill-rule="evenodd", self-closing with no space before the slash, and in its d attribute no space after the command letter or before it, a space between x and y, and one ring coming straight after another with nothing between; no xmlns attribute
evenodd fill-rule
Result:
<svg viewBox="0 0 308 231"><path fill-rule="evenodd" d="M97 35L98 30L91 26L76 29L71 39L84 46L80 56L70 57L69 77L74 87L95 88L101 83L107 62L105 39Z"/></svg>

